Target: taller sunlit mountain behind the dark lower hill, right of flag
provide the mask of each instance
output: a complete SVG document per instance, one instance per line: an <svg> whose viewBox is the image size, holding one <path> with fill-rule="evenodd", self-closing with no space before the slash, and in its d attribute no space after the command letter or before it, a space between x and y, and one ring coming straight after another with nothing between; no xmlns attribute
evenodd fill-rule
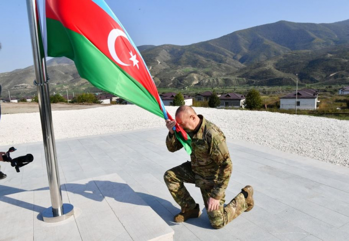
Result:
<svg viewBox="0 0 349 241"><path fill-rule="evenodd" d="M231 73L251 64L291 51L317 51L346 43L349 20L321 24L279 21L187 46L161 45L142 55L159 87L224 86L245 84ZM273 81L277 85L291 80L276 78L268 83Z"/></svg>

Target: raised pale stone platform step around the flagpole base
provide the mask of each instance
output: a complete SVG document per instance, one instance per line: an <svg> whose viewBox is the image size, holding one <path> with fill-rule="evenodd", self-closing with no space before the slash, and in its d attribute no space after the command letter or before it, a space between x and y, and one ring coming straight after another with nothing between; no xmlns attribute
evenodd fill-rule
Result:
<svg viewBox="0 0 349 241"><path fill-rule="evenodd" d="M118 174L61 187L75 213L59 223L42 221L51 206L48 188L0 197L1 240L173 241L174 231Z"/></svg>

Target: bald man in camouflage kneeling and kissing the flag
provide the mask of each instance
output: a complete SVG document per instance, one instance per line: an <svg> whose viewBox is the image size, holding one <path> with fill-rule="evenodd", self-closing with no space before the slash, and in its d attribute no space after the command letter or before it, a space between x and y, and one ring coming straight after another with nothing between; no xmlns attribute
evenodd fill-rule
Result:
<svg viewBox="0 0 349 241"><path fill-rule="evenodd" d="M183 183L194 183L200 188L209 221L213 228L220 229L242 212L254 206L253 188L246 186L225 207L225 189L228 186L232 163L223 132L201 115L196 115L189 106L180 106L175 113L175 121L191 138L191 161L184 162L168 170L165 183L181 212L174 216L174 222L184 222L200 216L199 205L195 203ZM166 120L169 134L166 145L174 152L182 148L175 138L175 121Z"/></svg>

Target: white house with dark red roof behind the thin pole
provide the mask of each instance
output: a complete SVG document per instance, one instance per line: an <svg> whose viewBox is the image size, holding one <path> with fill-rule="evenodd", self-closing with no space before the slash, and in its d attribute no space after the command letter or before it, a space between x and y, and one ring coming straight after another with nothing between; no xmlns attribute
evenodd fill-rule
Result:
<svg viewBox="0 0 349 241"><path fill-rule="evenodd" d="M297 93L297 95L296 95ZM302 89L280 98L280 109L316 110L319 92L314 89ZM297 96L297 99L296 99Z"/></svg>

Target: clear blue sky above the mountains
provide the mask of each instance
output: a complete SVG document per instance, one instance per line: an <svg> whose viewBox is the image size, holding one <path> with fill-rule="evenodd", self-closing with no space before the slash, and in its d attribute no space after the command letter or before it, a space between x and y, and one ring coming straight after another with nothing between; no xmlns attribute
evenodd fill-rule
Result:
<svg viewBox="0 0 349 241"><path fill-rule="evenodd" d="M105 1L137 46L188 45L280 20L349 19L349 0ZM26 0L0 0L0 43L0 73L33 64Z"/></svg>

